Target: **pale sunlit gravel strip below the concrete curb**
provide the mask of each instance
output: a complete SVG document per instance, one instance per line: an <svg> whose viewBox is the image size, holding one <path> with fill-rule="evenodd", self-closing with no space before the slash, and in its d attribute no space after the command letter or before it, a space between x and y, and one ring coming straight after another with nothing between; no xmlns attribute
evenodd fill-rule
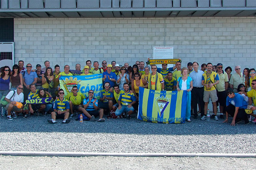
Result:
<svg viewBox="0 0 256 170"><path fill-rule="evenodd" d="M3 170L255 170L254 158L0 156Z"/></svg>

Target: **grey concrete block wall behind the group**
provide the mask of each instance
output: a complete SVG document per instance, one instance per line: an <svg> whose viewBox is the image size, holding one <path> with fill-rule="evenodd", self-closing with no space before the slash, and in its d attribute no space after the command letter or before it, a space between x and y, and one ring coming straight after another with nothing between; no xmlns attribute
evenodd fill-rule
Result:
<svg viewBox="0 0 256 170"><path fill-rule="evenodd" d="M187 62L218 62L255 68L256 17L183 18L17 18L15 63L35 68L59 64L75 68L85 61L123 65L153 58L154 46L173 46L174 57Z"/></svg>

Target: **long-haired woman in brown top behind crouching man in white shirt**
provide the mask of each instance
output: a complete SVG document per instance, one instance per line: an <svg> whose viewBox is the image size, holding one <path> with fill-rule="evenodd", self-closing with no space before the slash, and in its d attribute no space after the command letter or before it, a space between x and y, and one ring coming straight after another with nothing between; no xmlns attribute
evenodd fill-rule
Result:
<svg viewBox="0 0 256 170"><path fill-rule="evenodd" d="M17 64L12 66L10 81L12 83L11 90L16 90L18 85L23 85L23 77Z"/></svg>

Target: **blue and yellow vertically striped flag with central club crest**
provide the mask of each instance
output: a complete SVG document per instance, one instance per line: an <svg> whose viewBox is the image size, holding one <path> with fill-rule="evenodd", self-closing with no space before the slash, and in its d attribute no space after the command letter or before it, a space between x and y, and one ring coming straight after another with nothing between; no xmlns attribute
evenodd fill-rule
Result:
<svg viewBox="0 0 256 170"><path fill-rule="evenodd" d="M184 123L187 91L139 90L138 119L153 123Z"/></svg>

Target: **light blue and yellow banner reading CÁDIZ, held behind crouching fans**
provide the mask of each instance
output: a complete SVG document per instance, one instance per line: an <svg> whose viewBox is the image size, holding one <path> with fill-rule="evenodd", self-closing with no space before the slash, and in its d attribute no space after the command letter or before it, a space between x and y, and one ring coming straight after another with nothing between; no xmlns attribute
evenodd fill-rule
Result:
<svg viewBox="0 0 256 170"><path fill-rule="evenodd" d="M61 76L60 88L64 90L64 96L72 93L74 85L77 86L78 92L88 96L88 91L93 90L96 99L100 98L100 93L103 90L102 87L102 74L93 74L88 76Z"/></svg>

